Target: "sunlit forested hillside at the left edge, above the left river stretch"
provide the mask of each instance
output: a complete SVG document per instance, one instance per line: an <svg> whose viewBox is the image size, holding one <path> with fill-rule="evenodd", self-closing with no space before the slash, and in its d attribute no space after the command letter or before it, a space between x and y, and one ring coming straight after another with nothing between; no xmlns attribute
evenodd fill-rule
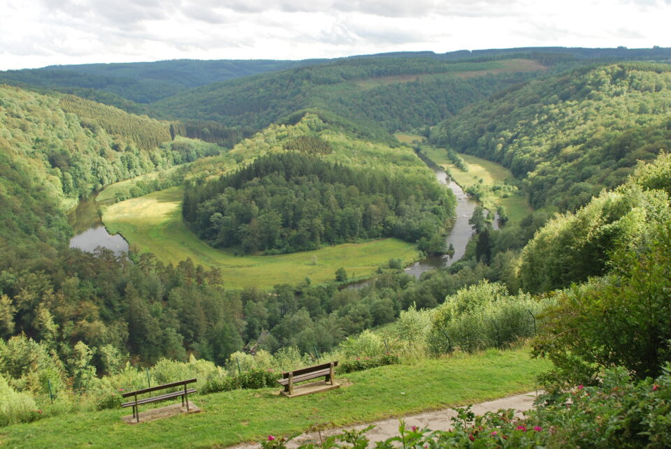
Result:
<svg viewBox="0 0 671 449"><path fill-rule="evenodd" d="M0 86L0 242L63 244L66 209L121 179L219 153L170 126L73 96ZM31 243L32 242L32 243Z"/></svg>

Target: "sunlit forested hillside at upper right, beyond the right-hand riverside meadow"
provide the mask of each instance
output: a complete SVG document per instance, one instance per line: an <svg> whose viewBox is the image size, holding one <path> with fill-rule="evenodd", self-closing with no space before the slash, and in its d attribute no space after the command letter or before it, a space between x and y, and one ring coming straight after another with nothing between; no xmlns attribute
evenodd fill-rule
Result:
<svg viewBox="0 0 671 449"><path fill-rule="evenodd" d="M431 139L510 168L535 208L573 210L671 148L671 66L621 63L495 94Z"/></svg>

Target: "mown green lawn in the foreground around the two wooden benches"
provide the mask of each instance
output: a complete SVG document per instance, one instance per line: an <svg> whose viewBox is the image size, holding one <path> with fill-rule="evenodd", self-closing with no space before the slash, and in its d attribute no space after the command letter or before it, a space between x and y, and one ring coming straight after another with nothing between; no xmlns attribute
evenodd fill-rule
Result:
<svg viewBox="0 0 671 449"><path fill-rule="evenodd" d="M121 408L45 418L1 429L0 441L17 448L226 447L312 425L354 425L527 392L548 368L543 360L531 360L528 348L491 349L336 376L343 384L338 390L293 399L279 396L279 388L194 397L203 413L140 425L122 423L129 411Z"/></svg>

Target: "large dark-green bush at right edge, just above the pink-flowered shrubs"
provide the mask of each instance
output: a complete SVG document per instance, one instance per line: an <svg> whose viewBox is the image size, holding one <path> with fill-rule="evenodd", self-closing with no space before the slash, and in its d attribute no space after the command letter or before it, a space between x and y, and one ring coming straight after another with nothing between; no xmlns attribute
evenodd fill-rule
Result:
<svg viewBox="0 0 671 449"><path fill-rule="evenodd" d="M597 383L600 371L623 366L637 378L658 376L671 361L671 222L646 251L619 251L609 277L561 293L535 339L535 355L553 376Z"/></svg>

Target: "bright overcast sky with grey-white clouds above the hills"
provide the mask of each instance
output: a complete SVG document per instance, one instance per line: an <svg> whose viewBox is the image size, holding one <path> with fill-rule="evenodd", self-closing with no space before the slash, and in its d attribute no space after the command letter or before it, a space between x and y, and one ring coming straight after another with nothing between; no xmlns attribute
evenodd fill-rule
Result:
<svg viewBox="0 0 671 449"><path fill-rule="evenodd" d="M0 0L0 69L528 46L671 47L671 0Z"/></svg>

